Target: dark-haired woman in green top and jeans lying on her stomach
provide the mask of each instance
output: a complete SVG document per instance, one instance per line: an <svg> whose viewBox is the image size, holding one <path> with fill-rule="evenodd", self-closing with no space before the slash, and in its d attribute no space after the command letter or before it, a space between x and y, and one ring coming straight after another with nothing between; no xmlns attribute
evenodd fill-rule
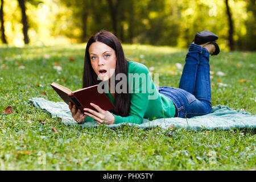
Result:
<svg viewBox="0 0 256 182"><path fill-rule="evenodd" d="M179 88L171 88L155 86L145 65L127 60L115 35L107 31L94 34L85 49L83 88L103 81L110 91L105 93L115 108L107 111L90 104L97 111L85 108L81 113L69 102L72 117L79 123L95 120L112 125L140 124L143 118L191 118L210 113L209 54L220 52L217 39L207 30L197 32L185 58ZM120 84L120 80L125 84Z"/></svg>

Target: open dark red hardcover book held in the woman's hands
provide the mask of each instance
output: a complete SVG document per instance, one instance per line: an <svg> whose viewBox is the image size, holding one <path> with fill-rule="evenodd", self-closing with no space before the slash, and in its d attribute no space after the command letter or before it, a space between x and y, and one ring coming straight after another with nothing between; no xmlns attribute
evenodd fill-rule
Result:
<svg viewBox="0 0 256 182"><path fill-rule="evenodd" d="M98 92L98 85L89 86L73 92L67 87L59 85L56 82L53 82L50 85L67 104L71 101L78 109L81 110L82 113L84 112L85 107L97 111L90 105L91 102L98 105L103 110L114 109L114 105L109 100L108 96L106 96L103 91L102 93Z"/></svg>

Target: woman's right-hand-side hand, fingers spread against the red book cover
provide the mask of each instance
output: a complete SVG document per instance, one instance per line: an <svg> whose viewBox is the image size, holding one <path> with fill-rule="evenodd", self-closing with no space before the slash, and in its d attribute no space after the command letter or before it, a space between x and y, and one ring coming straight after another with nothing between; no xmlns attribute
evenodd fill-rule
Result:
<svg viewBox="0 0 256 182"><path fill-rule="evenodd" d="M106 125L114 124L115 117L112 113L110 113L107 110L101 109L101 107L99 107L93 103L90 103L90 105L93 106L97 111L94 111L89 108L85 108L84 111L87 111L84 113L85 115L88 115L89 117L93 118L100 125L103 123Z"/></svg>

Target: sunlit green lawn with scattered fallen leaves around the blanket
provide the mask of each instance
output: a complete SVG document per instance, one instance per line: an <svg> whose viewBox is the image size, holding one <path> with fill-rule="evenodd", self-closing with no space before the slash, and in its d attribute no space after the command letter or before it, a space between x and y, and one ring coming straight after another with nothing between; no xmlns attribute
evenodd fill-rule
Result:
<svg viewBox="0 0 256 182"><path fill-rule="evenodd" d="M159 86L178 87L182 70L175 64L184 65L186 49L123 48L127 58L159 73ZM84 49L85 44L0 48L1 170L255 170L255 129L82 129L28 104L32 97L61 101L49 86L53 81L80 89ZM255 114L255 58L256 52L239 51L210 56L213 105ZM2 112L7 106L13 114Z"/></svg>

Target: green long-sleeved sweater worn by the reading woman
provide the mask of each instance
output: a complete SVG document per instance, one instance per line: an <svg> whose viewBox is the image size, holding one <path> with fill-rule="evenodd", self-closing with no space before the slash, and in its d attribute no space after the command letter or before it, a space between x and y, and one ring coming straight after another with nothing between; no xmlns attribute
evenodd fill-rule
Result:
<svg viewBox="0 0 256 182"><path fill-rule="evenodd" d="M170 98L159 93L149 75L145 65L127 60L129 83L130 112L129 116L114 115L115 122L141 124L143 118L150 121L157 118L171 118L175 115L175 106ZM109 100L115 105L112 94L106 93ZM85 121L94 119L86 117Z"/></svg>

